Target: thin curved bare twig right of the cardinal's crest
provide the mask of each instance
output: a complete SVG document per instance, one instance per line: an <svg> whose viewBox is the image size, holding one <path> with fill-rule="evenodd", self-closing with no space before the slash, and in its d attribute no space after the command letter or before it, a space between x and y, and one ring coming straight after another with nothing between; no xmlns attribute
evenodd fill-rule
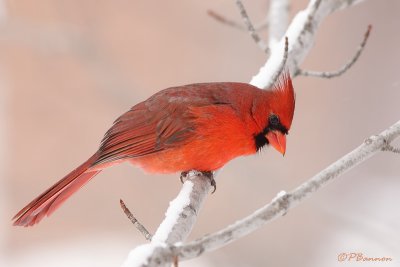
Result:
<svg viewBox="0 0 400 267"><path fill-rule="evenodd" d="M297 75L303 75L303 76L313 76L313 77L320 77L320 78L334 78L334 77L338 77L340 75L342 75L343 73L345 73L346 71L348 71L354 63L356 63L356 61L358 60L358 58L360 57L362 51L365 48L365 45L367 44L368 41L368 37L369 34L371 32L371 25L368 25L368 29L364 34L364 39L361 42L361 44L358 46L358 49L356 51L356 53L354 54L354 56L346 63L343 65L343 67L341 67L339 70L337 71L332 71L332 72L326 72L326 71L307 71L307 70L302 70L302 69L298 69L298 71L296 72L295 76Z"/></svg>

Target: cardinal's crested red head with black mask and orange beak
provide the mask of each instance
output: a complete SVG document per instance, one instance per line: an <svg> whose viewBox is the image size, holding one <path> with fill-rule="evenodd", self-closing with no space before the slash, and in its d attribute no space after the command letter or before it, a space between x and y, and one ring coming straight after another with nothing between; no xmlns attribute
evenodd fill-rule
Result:
<svg viewBox="0 0 400 267"><path fill-rule="evenodd" d="M273 88L264 91L262 97L254 99L252 116L259 126L259 132L254 135L257 151L270 144L285 155L294 107L295 94L288 73L283 74Z"/></svg>

